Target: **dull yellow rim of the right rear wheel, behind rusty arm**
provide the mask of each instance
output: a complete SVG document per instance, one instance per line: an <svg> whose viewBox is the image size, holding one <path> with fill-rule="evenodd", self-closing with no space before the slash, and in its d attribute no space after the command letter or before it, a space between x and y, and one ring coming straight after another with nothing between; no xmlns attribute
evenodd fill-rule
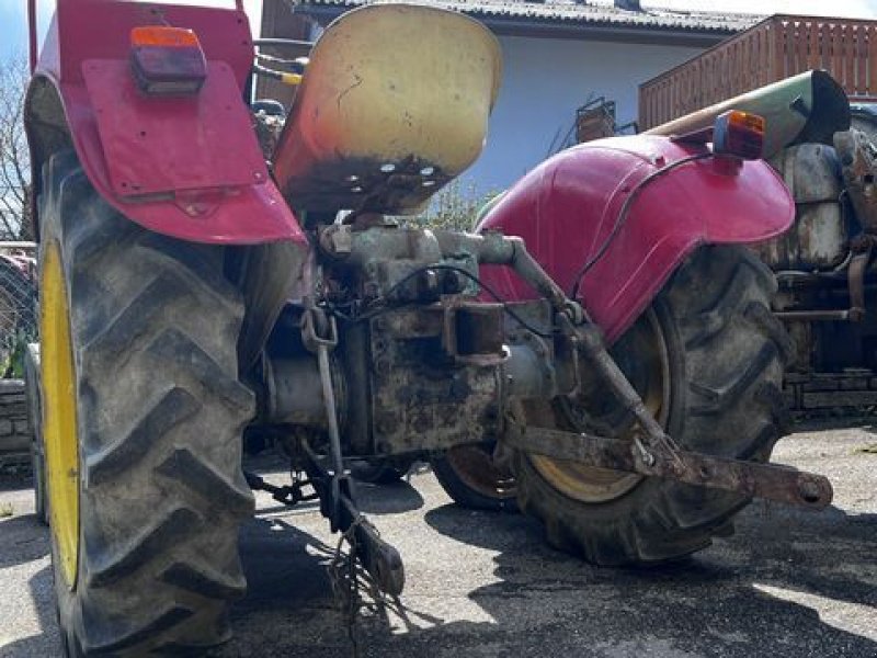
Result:
<svg viewBox="0 0 877 658"><path fill-rule="evenodd" d="M646 407L658 419L663 427L667 427L670 413L670 358L667 352L663 331L654 311L649 310L630 329L629 336L625 337L625 348L629 351L628 355L636 363L635 367L624 367L625 374L631 377L633 370L638 370L639 376L633 377L634 387L642 397ZM570 399L569 406L580 405L586 407L588 394L585 399ZM579 423L574 419L568 419L573 429L584 431L584 428L577 428ZM619 436L629 439L630 432ZM620 498L639 483L642 476L631 473L619 473L605 468L593 468L582 466L576 462L563 460L553 460L542 455L528 455L529 461L539 475L555 489L581 502L599 503L608 502Z"/></svg>

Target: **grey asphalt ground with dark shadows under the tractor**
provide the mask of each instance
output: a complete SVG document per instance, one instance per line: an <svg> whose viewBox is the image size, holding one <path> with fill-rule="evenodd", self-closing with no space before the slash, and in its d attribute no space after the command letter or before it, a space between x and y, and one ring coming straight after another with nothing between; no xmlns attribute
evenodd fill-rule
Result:
<svg viewBox="0 0 877 658"><path fill-rule="evenodd" d="M520 515L451 504L429 472L362 487L362 508L402 554L401 609L369 605L360 656L877 657L877 428L797 433L775 461L827 474L819 513L755 502L734 535L660 569L608 569L547 547ZM278 465L262 462L272 481ZM59 653L48 532L30 483L0 480L0 657ZM327 576L337 537L312 503L260 494L241 533L248 595L215 656L354 655Z"/></svg>

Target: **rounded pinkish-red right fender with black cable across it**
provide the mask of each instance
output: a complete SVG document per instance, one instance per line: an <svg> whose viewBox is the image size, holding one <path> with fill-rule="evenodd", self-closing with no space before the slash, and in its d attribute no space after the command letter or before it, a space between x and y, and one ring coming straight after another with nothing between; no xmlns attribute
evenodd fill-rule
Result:
<svg viewBox="0 0 877 658"><path fill-rule="evenodd" d="M672 164L697 154L706 157ZM584 263L611 239L581 277L579 297L612 342L699 245L759 242L791 225L795 204L770 166L708 154L703 145L645 135L584 144L513 185L478 230L524 238L568 294ZM626 219L611 237L631 194ZM481 277L505 298L537 296L508 268L486 266Z"/></svg>

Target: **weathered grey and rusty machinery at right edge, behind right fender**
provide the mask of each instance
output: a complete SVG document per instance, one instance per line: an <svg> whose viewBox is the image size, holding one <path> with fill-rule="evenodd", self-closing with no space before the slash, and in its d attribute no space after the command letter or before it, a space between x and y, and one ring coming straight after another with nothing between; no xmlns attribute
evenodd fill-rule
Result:
<svg viewBox="0 0 877 658"><path fill-rule="evenodd" d="M776 274L773 308L796 344L785 393L805 416L877 402L877 114L874 105L851 109L835 113L833 134L771 158L796 216L791 230L756 247Z"/></svg>

